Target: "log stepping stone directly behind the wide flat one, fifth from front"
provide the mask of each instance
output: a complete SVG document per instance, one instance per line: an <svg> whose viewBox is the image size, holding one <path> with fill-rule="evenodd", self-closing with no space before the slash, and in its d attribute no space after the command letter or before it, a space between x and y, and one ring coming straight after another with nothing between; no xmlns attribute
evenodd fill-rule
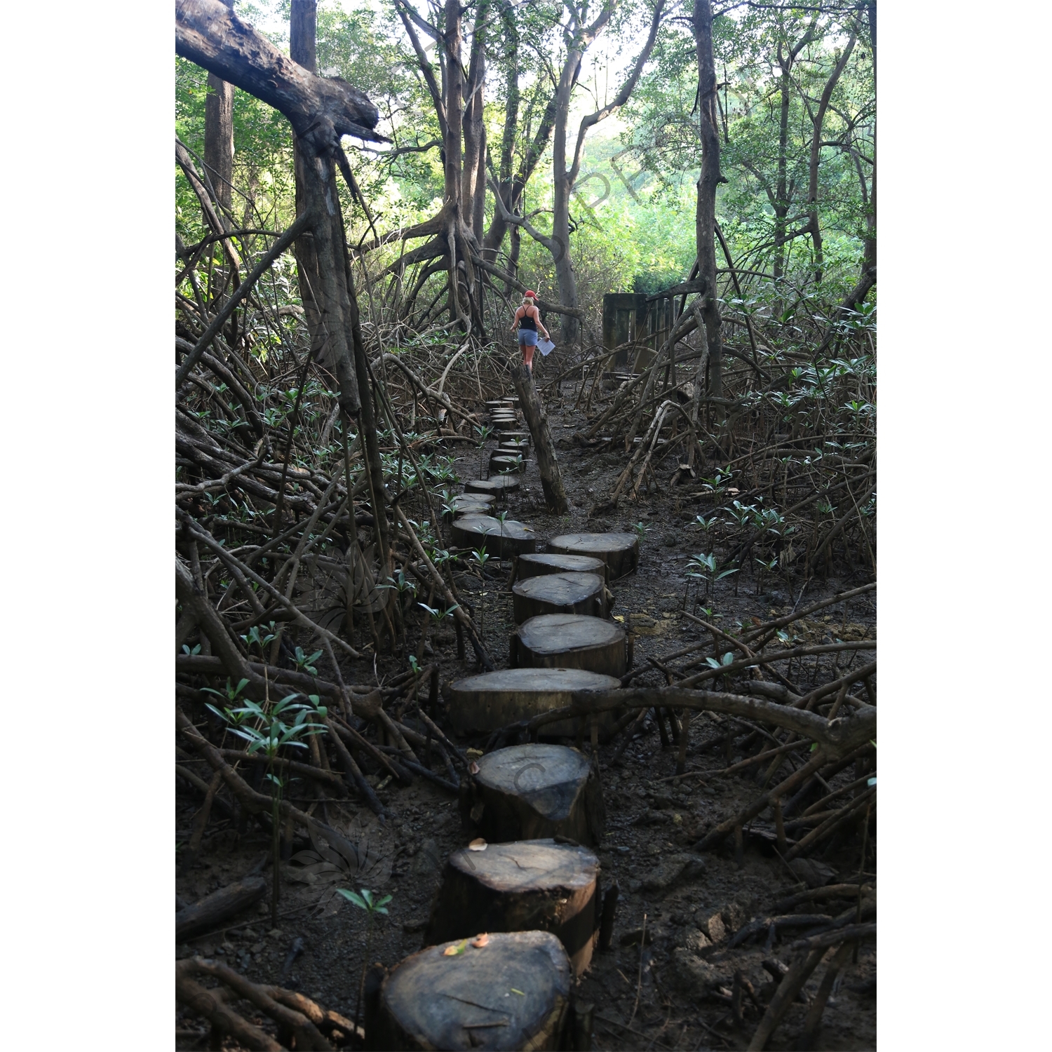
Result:
<svg viewBox="0 0 1052 1052"><path fill-rule="evenodd" d="M583 668L620 679L628 667L627 640L615 621L546 613L519 626L510 658L520 668Z"/></svg>

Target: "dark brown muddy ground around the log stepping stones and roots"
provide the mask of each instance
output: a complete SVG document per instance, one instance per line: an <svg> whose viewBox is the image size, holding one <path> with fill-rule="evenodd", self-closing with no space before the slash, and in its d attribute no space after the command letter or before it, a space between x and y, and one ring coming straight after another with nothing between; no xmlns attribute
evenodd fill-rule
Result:
<svg viewBox="0 0 1052 1052"><path fill-rule="evenodd" d="M701 641L703 634L707 638L707 633L683 616L682 610L686 562L692 553L713 547L711 534L705 538L692 525L695 515L710 510L712 501L683 495L682 489L679 493L668 489L675 469L673 456L656 468L660 492L644 492L634 502L622 499L615 511L589 518L589 509L608 497L626 458L620 451L582 450L570 442L571 433L583 424L581 413L571 408L573 391L574 385L566 382L561 396L551 394L547 400L571 503L570 514L555 518L545 513L540 479L532 463L523 476L522 492L510 498L509 508L512 518L534 528L539 542L557 533L629 530L635 524L643 524L639 570L612 585L613 614L625 619L635 633L634 667L639 667L648 656L660 658L692 641ZM461 477L477 477L478 452L461 447L459 456ZM715 547L724 549L719 535ZM803 605L866 580L856 575L812 581ZM471 596L469 602L474 601L480 589L478 581L464 575L458 582ZM706 605L713 615L721 615L722 626L733 629L736 622L788 612L801 600L802 584L765 582L764 592L757 595L756 581L746 573L739 581L732 576L720 582ZM506 667L511 602L510 593L501 590L501 574L495 570L486 591L487 646L498 667ZM693 602L692 589L688 609L694 608ZM873 593L829 607L814 621L794 626L795 634L808 642L821 642L834 629L841 639L875 635ZM452 633L440 633L434 651L436 658L429 660L441 662L443 684L477 671L473 660L457 660ZM699 651L704 652L708 651ZM371 650L369 656L367 664L348 662L344 666L347 682L371 680ZM808 659L803 668L793 671L794 682L802 687L831 677L826 666L815 667L812 661ZM404 671L405 667L404 660L382 654L377 659L376 671L382 681ZM321 663L319 673L331 675L332 670ZM664 680L652 670L636 682L659 684ZM733 689L733 683L727 688ZM717 852L691 851L707 828L745 805L758 791L755 768L741 774L713 775L712 772L727 766L728 758L730 762L742 758L740 752L725 755L724 737L725 732L711 717L695 717L687 757L688 773L681 778L673 776L674 750L662 747L658 728L649 721L626 750L621 765L611 768L609 763L620 740L601 746L607 828L598 854L603 885L618 881L621 897L613 950L595 954L578 991L580 999L595 1005L593 1047L596 1049L744 1049L762 1011L745 996L744 1018L735 1024L730 1008L734 973L743 973L763 1004L763 988L771 976L762 962L787 962L792 956L788 943L797 937L793 933L787 934L785 943L765 943L762 935L758 940L752 939L733 950L726 948L726 934L720 938L722 932L732 932L753 917L773 914L780 899L807 887L777 856L764 835L760 820L746 836L739 858L732 844ZM482 743L460 744L466 747ZM201 769L201 765L197 764L196 769ZM850 768L837 776L833 787L854 778L854 768ZM380 783L375 775L370 781ZM178 786L176 826L180 844L188 836L200 798L182 783ZM464 846L470 834L462 828L457 800L421 778L409 788L382 785L378 791L391 821L387 829L373 826L370 835L378 858L389 859L391 872L383 887L375 890L390 894L392 899L388 915L377 926L369 956L390 967L420 949L421 930L442 863L450 851ZM311 797L294 783L290 798L306 807ZM329 821L346 823L358 813L359 807L353 802L343 806L329 803L327 810ZM368 817L364 807L361 815ZM767 821L765 816L762 818ZM862 873L875 887L874 829L875 826L871 827L865 859L854 833L834 838L825 854L820 850L813 855L828 869L822 870L812 883L839 883L855 879ZM214 817L199 862L177 879L180 899L195 902L250 871L264 871L268 843L258 827L249 827L239 837L228 820ZM292 863L290 870L296 869ZM364 881L338 883L346 887L369 886ZM331 898L336 886L286 878L277 929L270 926L268 905L260 905L243 915L236 926L177 947L177 956L196 953L224 960L254 980L300 990L326 1008L353 1016L364 953L365 917L350 904L339 906L340 899ZM329 899L328 906L319 909L319 903L325 898ZM835 916L851 905L843 899L827 901L800 906L797 912ZM641 947L638 930L644 920L647 945ZM297 949L299 953L294 952ZM807 992L814 992L822 973L822 968L815 971ZM875 1047L875 947L864 945L857 962L848 965L829 999L817 1048ZM806 1011L803 1002L794 1004L768 1047L792 1048ZM181 1006L177 1009L176 1026L177 1048L208 1047L207 1025ZM227 1039L222 1047L240 1046Z"/></svg>

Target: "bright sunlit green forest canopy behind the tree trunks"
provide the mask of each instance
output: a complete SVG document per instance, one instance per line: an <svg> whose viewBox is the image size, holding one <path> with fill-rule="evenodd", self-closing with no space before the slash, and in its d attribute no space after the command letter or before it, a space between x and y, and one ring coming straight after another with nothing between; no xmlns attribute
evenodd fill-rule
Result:
<svg viewBox="0 0 1052 1052"><path fill-rule="evenodd" d="M582 116L615 96L653 15L648 3L612 6L607 24L583 49L569 99L570 139ZM383 234L425 223L441 208L443 195L442 130L404 21L410 28L416 24L399 16L408 9L357 0L318 4L319 73L360 87L380 110L378 130L390 140L349 154ZM239 2L236 11L287 50L287 0ZM443 24L440 7L420 11L437 26ZM571 8L483 0L463 11L464 25L473 29L466 41L482 36L486 53L479 116L488 147L487 184L495 180L506 186L514 174L528 169L525 186L510 203L539 234L551 237L554 178L545 108L568 49L575 46L566 31ZM569 255L593 325L603 292L655 291L686 277L694 260L692 224L684 221L694 209L701 165L695 43L688 16L688 8L676 5L663 12L629 99L589 129L583 143L568 202ZM426 45L424 60L441 64L434 41L422 31L418 38ZM712 47L726 179L716 199L717 219L731 257L749 272L750 298L758 306L780 304L791 287L824 301L843 300L858 281L874 228L875 85L866 9L857 4L729 4L713 17ZM203 156L207 75L177 58L176 79L178 135ZM295 214L288 122L237 89L234 137L239 223L284 227ZM540 148L541 156L530 157L531 148ZM193 243L201 235L200 208L185 179L177 181L179 231ZM352 207L345 186L341 193L348 238L361 241L368 221ZM485 197L482 225L492 232L492 193ZM529 236L520 244L517 232L510 231L510 244L502 242L512 265L530 276L543 297L558 300L552 252ZM369 265L380 270L400 250L392 243Z"/></svg>

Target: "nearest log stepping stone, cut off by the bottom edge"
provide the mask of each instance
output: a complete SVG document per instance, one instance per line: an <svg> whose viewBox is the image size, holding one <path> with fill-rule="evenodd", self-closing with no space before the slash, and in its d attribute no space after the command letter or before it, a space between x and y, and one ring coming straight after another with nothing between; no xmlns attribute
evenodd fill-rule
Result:
<svg viewBox="0 0 1052 1052"><path fill-rule="evenodd" d="M570 962L546 931L494 932L481 949L429 946L380 988L377 1049L558 1049L570 1019Z"/></svg>

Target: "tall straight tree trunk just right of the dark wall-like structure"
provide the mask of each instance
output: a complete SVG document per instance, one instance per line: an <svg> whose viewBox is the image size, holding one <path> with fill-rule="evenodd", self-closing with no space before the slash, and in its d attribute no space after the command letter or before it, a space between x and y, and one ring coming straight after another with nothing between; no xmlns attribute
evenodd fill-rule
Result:
<svg viewBox="0 0 1052 1052"><path fill-rule="evenodd" d="M720 173L720 124L716 115L716 69L712 56L712 4L694 0L694 42L697 52L697 109L702 139L702 171L697 177L694 236L697 276L705 281L702 319L709 351L709 394L723 398L723 322L716 300L716 187Z"/></svg>

